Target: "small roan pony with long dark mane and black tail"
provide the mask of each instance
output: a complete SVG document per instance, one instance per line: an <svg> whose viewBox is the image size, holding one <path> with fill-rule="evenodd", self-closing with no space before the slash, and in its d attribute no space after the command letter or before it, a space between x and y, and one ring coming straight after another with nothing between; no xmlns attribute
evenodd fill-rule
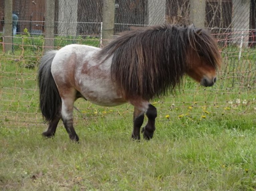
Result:
<svg viewBox="0 0 256 191"><path fill-rule="evenodd" d="M157 109L150 99L175 92L186 74L202 86L216 82L221 55L214 37L194 26L157 25L119 34L107 46L72 44L51 50L38 69L40 109L53 137L62 119L71 140L74 102L84 98L97 105L134 106L132 138L149 140L155 131ZM144 115L148 121L143 124Z"/></svg>

